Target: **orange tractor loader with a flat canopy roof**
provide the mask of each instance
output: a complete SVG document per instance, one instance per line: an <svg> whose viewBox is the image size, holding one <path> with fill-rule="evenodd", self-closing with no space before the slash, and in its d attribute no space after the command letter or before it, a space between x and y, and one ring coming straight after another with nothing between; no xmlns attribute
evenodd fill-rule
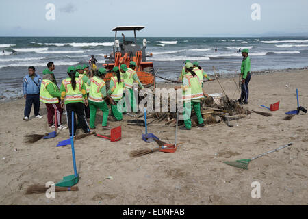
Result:
<svg viewBox="0 0 308 219"><path fill-rule="evenodd" d="M105 55L106 63L103 66L107 70L107 75L105 76L105 81L110 81L112 77L112 68L118 66L120 68L121 64L126 64L129 68L129 62L136 62L136 73L144 85L153 85L155 87L155 76L153 75L153 62L146 62L146 57L151 57L152 53L146 54L146 40L144 39L143 47L141 48L136 42L136 30L141 30L142 26L126 26L126 27L116 27L112 29L113 31L128 31L132 30L135 36L135 42L125 40L124 34L123 43L120 44L115 36L115 44L113 47L113 53L110 55ZM120 47L120 51L118 48Z"/></svg>

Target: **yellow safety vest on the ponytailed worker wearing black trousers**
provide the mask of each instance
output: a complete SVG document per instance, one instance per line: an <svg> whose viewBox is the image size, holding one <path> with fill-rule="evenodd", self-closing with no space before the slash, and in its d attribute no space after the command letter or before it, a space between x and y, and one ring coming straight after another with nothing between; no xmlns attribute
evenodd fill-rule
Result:
<svg viewBox="0 0 308 219"><path fill-rule="evenodd" d="M67 103L67 101L73 101L73 102L83 101L82 90L81 90L83 81L79 78L75 78L76 88L75 90L73 90L71 80L72 79L70 78L66 78L66 79L63 79L62 81L65 87L65 99L64 99L65 104Z"/></svg>

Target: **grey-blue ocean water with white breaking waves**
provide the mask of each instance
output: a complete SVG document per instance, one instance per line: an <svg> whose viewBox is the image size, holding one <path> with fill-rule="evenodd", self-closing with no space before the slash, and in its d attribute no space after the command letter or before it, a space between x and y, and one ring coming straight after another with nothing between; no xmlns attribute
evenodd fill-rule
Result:
<svg viewBox="0 0 308 219"><path fill-rule="evenodd" d="M308 38L164 38L139 37L138 44L146 38L146 53L153 53L157 75L177 79L183 61L198 61L213 75L212 66L225 75L239 72L242 62L239 48L248 48L251 71L300 68L308 66ZM122 40L120 38L120 40ZM127 37L126 40L133 40ZM23 77L28 66L35 66L42 76L47 62L55 64L58 83L66 77L66 68L87 64L94 55L101 67L104 55L112 52L113 37L5 37L0 38L0 98L22 95ZM218 51L215 51L217 47ZM157 81L162 81L157 79ZM60 85L60 84L59 84Z"/></svg>

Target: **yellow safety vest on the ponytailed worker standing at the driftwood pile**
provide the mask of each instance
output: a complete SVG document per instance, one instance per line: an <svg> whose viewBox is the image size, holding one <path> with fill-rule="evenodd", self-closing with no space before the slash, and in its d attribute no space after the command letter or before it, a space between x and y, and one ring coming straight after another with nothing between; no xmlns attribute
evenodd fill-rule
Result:
<svg viewBox="0 0 308 219"><path fill-rule="evenodd" d="M204 96L199 77L197 75L194 77L191 73L187 73L184 77L188 79L188 88L190 89L183 90L183 101L203 99Z"/></svg>

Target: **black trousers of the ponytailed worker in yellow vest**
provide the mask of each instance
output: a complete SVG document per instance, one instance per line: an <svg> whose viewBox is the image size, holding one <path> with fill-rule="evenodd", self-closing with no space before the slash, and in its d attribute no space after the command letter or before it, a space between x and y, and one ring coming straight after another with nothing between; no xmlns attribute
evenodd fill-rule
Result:
<svg viewBox="0 0 308 219"><path fill-rule="evenodd" d="M72 135L72 112L74 112L74 136L77 129L76 115L81 129L84 130L85 133L90 131L87 120L84 117L84 103L68 103L66 104L66 112L68 118L68 128L70 129L70 136Z"/></svg>

